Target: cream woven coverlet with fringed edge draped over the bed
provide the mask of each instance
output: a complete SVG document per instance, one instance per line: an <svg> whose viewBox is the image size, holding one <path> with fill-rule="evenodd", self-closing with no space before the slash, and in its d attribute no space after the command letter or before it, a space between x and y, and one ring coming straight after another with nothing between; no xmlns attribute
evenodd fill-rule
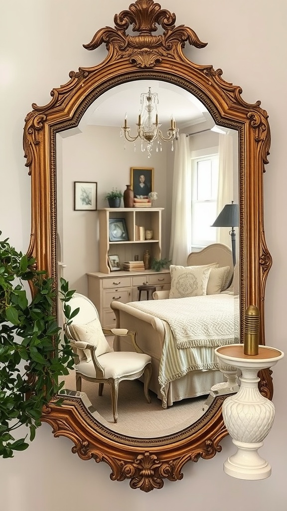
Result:
<svg viewBox="0 0 287 511"><path fill-rule="evenodd" d="M163 321L165 334L158 373L163 408L168 403L166 384L190 371L218 369L214 348L238 342L238 299L231 295L145 300L129 306Z"/></svg>

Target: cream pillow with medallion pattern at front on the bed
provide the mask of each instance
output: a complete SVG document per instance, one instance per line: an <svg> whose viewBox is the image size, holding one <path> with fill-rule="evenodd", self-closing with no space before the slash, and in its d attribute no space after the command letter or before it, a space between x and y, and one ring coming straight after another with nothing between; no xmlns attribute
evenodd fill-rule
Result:
<svg viewBox="0 0 287 511"><path fill-rule="evenodd" d="M169 298L205 295L212 266L171 265L171 290Z"/></svg>

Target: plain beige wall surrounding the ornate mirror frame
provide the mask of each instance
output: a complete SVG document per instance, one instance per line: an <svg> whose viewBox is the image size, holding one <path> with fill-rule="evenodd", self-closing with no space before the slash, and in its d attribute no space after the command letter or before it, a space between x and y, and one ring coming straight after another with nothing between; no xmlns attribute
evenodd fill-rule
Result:
<svg viewBox="0 0 287 511"><path fill-rule="evenodd" d="M105 48L87 52L83 43L95 31L113 25L113 15L127 9L123 0L14 0L1 9L1 229L14 245L26 250L30 236L30 182L24 167L22 128L31 103L46 104L50 90L65 83L70 69L91 66ZM272 146L265 174L265 230L273 256L266 289L267 343L285 349L286 288L284 236L286 218L286 2L284 0L172 0L162 7L176 11L177 24L192 27L205 49L186 48L201 64L221 67L226 81L243 88L245 101L261 100L270 116ZM226 437L223 451L209 461L188 463L184 478L165 482L163 490L143 494L127 481L111 482L106 464L83 462L71 454L72 444L54 439L43 424L32 446L12 460L0 460L1 507L5 511L285 511L287 358L275 366L275 423L261 449L273 473L265 481L241 481L223 473L234 452Z"/></svg>

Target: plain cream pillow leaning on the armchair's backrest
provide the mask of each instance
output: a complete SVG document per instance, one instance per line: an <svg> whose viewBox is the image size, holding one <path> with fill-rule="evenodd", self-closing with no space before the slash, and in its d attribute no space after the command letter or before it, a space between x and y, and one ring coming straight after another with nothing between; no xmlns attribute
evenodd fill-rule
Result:
<svg viewBox="0 0 287 511"><path fill-rule="evenodd" d="M94 319L86 324L73 323L69 325L70 335L75 341L84 341L97 347L95 354L97 357L104 353L112 351L107 339L104 336L102 326L99 319ZM85 350L87 361L91 360L89 350Z"/></svg>

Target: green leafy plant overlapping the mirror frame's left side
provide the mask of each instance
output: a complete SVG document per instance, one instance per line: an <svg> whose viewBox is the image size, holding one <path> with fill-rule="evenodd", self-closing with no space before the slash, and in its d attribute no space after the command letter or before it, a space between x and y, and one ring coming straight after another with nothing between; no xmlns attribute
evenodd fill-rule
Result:
<svg viewBox="0 0 287 511"><path fill-rule="evenodd" d="M32 442L41 425L43 406L64 385L58 383L58 377L67 375L74 363L68 339L65 335L61 338L61 329L53 315L54 281L46 278L45 272L36 270L35 263L34 258L17 252L8 239L0 241L0 456L3 458L27 449L28 434L15 439L14 431L26 426ZM27 293L25 289L27 281L34 290L30 300L29 290ZM70 311L67 302L74 291L68 290L68 283L63 279L60 294L70 320L78 310Z"/></svg>

